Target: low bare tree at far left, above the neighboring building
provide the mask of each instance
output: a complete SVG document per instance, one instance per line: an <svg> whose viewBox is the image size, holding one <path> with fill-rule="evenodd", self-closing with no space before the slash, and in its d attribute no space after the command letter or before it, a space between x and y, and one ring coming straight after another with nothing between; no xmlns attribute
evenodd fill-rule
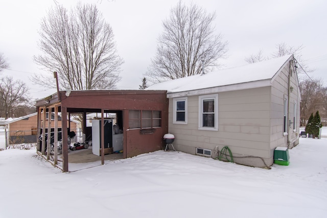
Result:
<svg viewBox="0 0 327 218"><path fill-rule="evenodd" d="M15 111L29 107L28 87L21 80L14 81L12 77L4 77L0 81L0 115L15 116Z"/></svg>

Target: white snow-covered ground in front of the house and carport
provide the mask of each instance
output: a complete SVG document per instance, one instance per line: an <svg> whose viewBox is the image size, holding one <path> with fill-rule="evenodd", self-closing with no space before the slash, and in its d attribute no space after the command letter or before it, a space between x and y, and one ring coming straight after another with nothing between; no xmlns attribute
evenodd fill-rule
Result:
<svg viewBox="0 0 327 218"><path fill-rule="evenodd" d="M327 217L327 138L289 153L271 169L157 151L61 173L35 150L9 149L0 217Z"/></svg>

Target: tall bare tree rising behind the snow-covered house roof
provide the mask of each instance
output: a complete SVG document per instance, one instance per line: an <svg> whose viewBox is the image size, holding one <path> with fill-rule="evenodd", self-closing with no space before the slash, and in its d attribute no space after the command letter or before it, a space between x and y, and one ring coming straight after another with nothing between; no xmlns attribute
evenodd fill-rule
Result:
<svg viewBox="0 0 327 218"><path fill-rule="evenodd" d="M215 18L216 13L179 1L162 22L164 32L146 73L149 80L157 83L201 74L202 61L205 71L216 68L218 59L226 57L227 42L221 34L215 35Z"/></svg>

